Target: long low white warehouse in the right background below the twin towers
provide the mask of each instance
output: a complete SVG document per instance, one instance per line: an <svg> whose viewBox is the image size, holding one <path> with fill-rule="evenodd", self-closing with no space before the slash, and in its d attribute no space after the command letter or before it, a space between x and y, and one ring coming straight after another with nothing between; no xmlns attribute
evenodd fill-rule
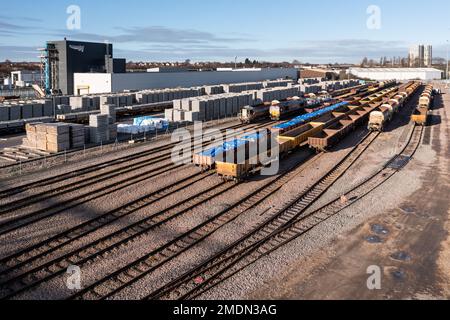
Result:
<svg viewBox="0 0 450 320"><path fill-rule="evenodd" d="M371 80L436 80L442 79L442 71L434 68L350 68L350 74Z"/></svg>

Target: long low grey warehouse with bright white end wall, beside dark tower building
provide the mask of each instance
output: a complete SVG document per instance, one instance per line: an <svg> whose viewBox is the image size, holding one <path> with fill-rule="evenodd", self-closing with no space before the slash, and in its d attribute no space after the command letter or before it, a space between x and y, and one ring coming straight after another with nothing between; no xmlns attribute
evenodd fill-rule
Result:
<svg viewBox="0 0 450 320"><path fill-rule="evenodd" d="M124 90L190 88L242 82L290 78L298 80L295 68L270 68L234 71L142 72L142 73L75 73L74 93L122 92Z"/></svg>

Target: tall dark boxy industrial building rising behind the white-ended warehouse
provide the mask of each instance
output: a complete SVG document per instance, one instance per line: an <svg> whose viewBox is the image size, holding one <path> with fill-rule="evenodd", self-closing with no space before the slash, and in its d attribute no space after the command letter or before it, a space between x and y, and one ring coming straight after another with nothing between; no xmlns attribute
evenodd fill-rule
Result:
<svg viewBox="0 0 450 320"><path fill-rule="evenodd" d="M75 73L125 72L125 59L113 59L113 45L80 41L49 41L42 58L47 93L74 94Z"/></svg>

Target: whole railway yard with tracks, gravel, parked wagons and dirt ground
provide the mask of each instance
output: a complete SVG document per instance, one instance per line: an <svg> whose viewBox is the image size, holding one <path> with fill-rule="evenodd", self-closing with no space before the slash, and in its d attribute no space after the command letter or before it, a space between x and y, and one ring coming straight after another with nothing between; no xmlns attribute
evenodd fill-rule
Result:
<svg viewBox="0 0 450 320"><path fill-rule="evenodd" d="M164 134L0 167L0 298L450 298L445 84L270 100L206 122L235 131L203 132L187 163L174 149L191 144Z"/></svg>

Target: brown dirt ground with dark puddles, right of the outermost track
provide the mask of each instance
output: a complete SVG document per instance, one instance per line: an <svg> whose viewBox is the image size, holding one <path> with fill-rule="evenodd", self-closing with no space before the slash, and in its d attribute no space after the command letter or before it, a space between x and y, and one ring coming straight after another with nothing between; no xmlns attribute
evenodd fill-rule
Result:
<svg viewBox="0 0 450 320"><path fill-rule="evenodd" d="M441 88L445 89L443 85ZM335 237L330 246L299 260L287 274L272 279L250 297L449 299L449 114L450 90L445 89L442 99L435 101L416 156L382 191L394 194L396 188L407 188L408 175L420 187L407 197L399 197L390 210L367 219ZM362 200L359 206L367 210L377 205L369 201ZM381 271L381 287L369 289L368 279L377 268Z"/></svg>

